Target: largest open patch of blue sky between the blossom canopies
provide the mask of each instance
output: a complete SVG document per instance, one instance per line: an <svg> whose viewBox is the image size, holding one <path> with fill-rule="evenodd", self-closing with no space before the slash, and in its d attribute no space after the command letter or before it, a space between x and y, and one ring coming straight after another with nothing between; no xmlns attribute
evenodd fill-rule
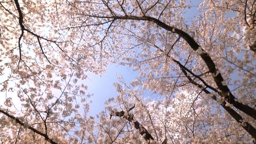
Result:
<svg viewBox="0 0 256 144"><path fill-rule="evenodd" d="M138 72L134 72L132 68L128 66L109 64L106 73L104 73L102 77L92 74L85 80L85 84L88 86L86 92L93 94L89 99L92 100L89 115L98 114L100 111L104 110L104 102L106 102L108 98L116 97L116 88L112 85L114 82L118 82L116 73L124 76L124 80L127 84L130 84L130 82L138 76Z"/></svg>

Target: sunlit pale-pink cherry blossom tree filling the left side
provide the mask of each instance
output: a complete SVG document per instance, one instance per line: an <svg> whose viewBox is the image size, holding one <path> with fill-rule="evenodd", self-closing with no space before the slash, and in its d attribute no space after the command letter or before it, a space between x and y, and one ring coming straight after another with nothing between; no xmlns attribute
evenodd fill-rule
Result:
<svg viewBox="0 0 256 144"><path fill-rule="evenodd" d="M59 16L61 4L0 2L2 143L56 144L85 139L82 133L73 137L80 124L90 124L84 117L90 95L85 92L87 86L77 82L102 69L90 60L89 53L96 53L80 51L84 46L72 32L57 31L68 24Z"/></svg>

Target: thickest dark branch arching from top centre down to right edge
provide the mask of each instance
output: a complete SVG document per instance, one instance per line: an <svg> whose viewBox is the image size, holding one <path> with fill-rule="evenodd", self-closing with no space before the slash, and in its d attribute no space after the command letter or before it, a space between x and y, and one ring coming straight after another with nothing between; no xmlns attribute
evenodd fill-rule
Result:
<svg viewBox="0 0 256 144"><path fill-rule="evenodd" d="M90 16L90 15L87 15ZM238 108L242 112L248 114L252 118L256 120L256 110L251 108L250 106L247 106L245 104L242 104L241 102L238 102L238 99L234 97L234 95L230 92L230 89L228 86L224 85L224 79L218 69L216 68L215 63L210 58L210 56L205 52L198 44L197 42L186 32L183 30L177 29L173 26L169 26L165 24L164 22L150 17L150 16L91 16L96 18L107 18L107 19L120 19L120 20L144 20L144 21L151 21L157 24L158 26L164 28L165 30L168 30L172 33L178 34L180 37L182 37L189 45L190 47L198 52L200 57L204 60L206 66L209 69L209 72L212 74L212 77L214 78L214 81L216 85L218 86L218 89L220 90L220 96L225 98L225 100L232 104L234 107ZM200 49L200 50L198 50Z"/></svg>

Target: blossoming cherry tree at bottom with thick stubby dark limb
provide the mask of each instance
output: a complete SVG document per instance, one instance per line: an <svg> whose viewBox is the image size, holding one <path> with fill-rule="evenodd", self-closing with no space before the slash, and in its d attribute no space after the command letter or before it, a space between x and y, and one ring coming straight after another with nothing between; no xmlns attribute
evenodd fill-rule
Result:
<svg viewBox="0 0 256 144"><path fill-rule="evenodd" d="M100 116L100 130L96 135L103 138L94 143L243 143L250 140L230 115L221 115L221 111L213 112L209 108L214 102L205 106L199 100L202 90L179 92L173 100L165 98L156 102L145 100L138 88L130 89L121 83L123 87L116 84L117 98L107 102L110 116L106 112ZM237 137L237 132L242 137Z"/></svg>

